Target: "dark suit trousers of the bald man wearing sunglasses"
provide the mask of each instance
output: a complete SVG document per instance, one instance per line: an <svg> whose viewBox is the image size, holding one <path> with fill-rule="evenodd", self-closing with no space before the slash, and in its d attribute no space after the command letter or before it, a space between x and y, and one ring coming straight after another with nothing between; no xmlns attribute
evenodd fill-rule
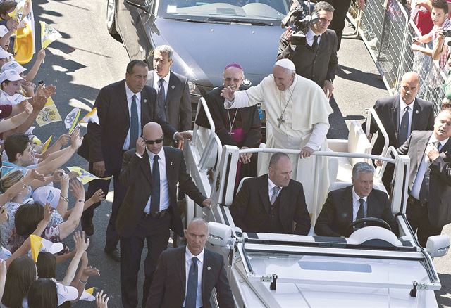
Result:
<svg viewBox="0 0 451 308"><path fill-rule="evenodd" d="M146 306L156 264L161 252L168 248L171 225L169 213L161 218L145 217L143 214L132 236L121 237L121 296L124 308L135 308L138 304L137 280L144 241L147 242L147 256L144 260L142 307Z"/></svg>

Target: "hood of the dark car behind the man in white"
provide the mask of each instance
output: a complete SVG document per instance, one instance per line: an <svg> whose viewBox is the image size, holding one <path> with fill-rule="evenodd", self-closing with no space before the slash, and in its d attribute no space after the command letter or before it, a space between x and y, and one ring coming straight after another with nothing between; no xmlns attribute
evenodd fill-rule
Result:
<svg viewBox="0 0 451 308"><path fill-rule="evenodd" d="M232 62L242 65L254 85L271 74L283 29L156 18L152 32L154 46L173 47L171 70L203 86L221 86L223 69Z"/></svg>

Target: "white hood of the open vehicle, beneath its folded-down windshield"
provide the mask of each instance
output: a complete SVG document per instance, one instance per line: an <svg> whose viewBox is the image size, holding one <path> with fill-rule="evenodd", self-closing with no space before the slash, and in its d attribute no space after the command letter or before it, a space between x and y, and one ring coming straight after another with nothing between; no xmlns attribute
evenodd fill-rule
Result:
<svg viewBox="0 0 451 308"><path fill-rule="evenodd" d="M299 261L254 259L251 264L259 275L278 275L273 291L268 282L248 281L261 302L271 308L437 306L433 290L418 290L417 296L411 297L408 288L390 288L413 281L430 283L426 270L416 260L304 256ZM283 282L283 278L293 282ZM245 306L252 307L252 303Z"/></svg>

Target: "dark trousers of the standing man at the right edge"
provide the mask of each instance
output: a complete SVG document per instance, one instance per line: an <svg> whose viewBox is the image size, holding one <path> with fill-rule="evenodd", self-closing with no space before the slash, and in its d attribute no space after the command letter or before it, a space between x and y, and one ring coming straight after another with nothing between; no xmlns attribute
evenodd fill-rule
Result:
<svg viewBox="0 0 451 308"><path fill-rule="evenodd" d="M422 247L426 247L429 236L438 236L442 233L443 226L433 226L429 222L428 205L421 204L419 200L409 197L407 200L407 220L414 232L416 238Z"/></svg>

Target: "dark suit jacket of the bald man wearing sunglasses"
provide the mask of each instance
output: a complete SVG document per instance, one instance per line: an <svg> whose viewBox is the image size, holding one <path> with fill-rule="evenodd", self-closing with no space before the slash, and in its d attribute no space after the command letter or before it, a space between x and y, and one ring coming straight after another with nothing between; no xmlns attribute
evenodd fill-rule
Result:
<svg viewBox="0 0 451 308"><path fill-rule="evenodd" d="M170 199L169 210L172 214L171 229L179 236L183 236L182 219L177 207L177 182L183 193L189 195L195 203L202 204L206 197L194 185L190 174L187 174L183 152L177 148L164 146L164 153ZM152 175L147 151L144 151L142 158L135 155L135 149L124 153L119 180L127 186L127 193L118 212L116 231L122 238L128 238L135 231L136 224L140 221L152 193Z"/></svg>

